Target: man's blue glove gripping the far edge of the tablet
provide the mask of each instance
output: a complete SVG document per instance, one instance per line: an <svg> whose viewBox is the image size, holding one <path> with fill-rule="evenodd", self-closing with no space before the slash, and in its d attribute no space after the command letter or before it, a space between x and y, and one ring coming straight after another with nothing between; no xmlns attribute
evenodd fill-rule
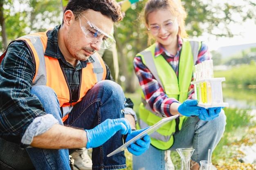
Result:
<svg viewBox="0 0 256 170"><path fill-rule="evenodd" d="M127 135L126 142L129 141L130 139L132 139L133 137L137 136L138 134L140 134L141 132L143 132L146 129L147 128L132 131L131 134ZM148 135L146 135L142 139L137 140L136 143L133 143L130 146L128 146L127 149L133 155L139 156L139 155L143 154L146 150L148 150L148 148L150 146L150 142L151 142L150 137Z"/></svg>

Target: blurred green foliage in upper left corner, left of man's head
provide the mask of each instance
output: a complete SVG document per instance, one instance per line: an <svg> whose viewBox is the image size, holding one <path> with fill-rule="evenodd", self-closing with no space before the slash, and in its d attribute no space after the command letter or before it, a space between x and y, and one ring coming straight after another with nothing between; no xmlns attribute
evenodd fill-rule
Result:
<svg viewBox="0 0 256 170"><path fill-rule="evenodd" d="M3 13L8 43L33 32L46 31L61 24L60 0L3 0ZM4 49L0 39L0 50Z"/></svg>

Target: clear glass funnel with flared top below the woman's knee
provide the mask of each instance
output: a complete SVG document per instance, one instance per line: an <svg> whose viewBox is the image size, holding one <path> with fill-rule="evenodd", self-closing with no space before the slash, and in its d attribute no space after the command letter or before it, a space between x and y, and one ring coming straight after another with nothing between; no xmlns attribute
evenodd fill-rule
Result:
<svg viewBox="0 0 256 170"><path fill-rule="evenodd" d="M177 148L176 149L181 159L181 168L180 170L190 170L190 158L195 151L192 148Z"/></svg>

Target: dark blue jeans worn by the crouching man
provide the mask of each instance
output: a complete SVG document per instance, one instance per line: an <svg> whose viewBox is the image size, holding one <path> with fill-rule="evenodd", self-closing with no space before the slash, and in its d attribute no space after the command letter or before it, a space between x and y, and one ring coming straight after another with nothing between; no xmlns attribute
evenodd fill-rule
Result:
<svg viewBox="0 0 256 170"><path fill-rule="evenodd" d="M47 86L35 86L32 87L31 94L38 96L46 113L51 113L60 124L63 124L61 109L56 94L51 88ZM125 97L121 86L113 81L103 80L95 84L86 93L81 102L74 106L64 125L91 129L108 118L116 119L124 117L124 113L121 111L124 109L124 101ZM17 154L16 152L11 152L13 155L6 157L8 160L0 160L0 169L3 167L1 170L30 170L34 167L36 170L70 170L68 149L27 148L26 150L21 150L18 145L2 139L0 139L0 144L4 144L0 145L1 148L6 148L6 152L1 153L2 155L9 155L10 152L8 150L16 150L18 152ZM106 157L106 155L122 144L122 135L120 132L117 132L105 144L98 148L93 148L92 169L115 170L126 168L124 152L120 152L109 158ZM7 167L6 164L10 167Z"/></svg>

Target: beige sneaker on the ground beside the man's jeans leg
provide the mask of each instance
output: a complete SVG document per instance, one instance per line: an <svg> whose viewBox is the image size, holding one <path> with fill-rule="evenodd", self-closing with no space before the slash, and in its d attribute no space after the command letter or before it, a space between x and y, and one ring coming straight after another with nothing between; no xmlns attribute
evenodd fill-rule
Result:
<svg viewBox="0 0 256 170"><path fill-rule="evenodd" d="M79 148L71 154L74 159L73 170L92 170L92 159L86 148Z"/></svg>

